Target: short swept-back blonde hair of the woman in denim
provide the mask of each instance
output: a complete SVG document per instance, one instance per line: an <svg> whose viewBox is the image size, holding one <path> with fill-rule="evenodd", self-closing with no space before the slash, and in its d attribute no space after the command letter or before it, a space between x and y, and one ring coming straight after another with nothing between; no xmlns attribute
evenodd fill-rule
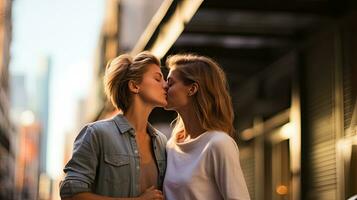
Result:
<svg viewBox="0 0 357 200"><path fill-rule="evenodd" d="M132 97L128 83L130 80L141 83L150 64L160 67L160 60L148 51L141 52L134 58L123 54L108 62L104 75L104 91L114 107L123 112L128 110Z"/></svg>

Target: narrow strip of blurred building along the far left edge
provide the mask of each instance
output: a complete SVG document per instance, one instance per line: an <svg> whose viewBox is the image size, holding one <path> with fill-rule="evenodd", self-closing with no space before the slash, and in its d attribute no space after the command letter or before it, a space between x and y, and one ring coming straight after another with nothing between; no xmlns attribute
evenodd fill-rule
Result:
<svg viewBox="0 0 357 200"><path fill-rule="evenodd" d="M14 128L9 113L11 8L11 0L0 1L0 199L12 199L14 188Z"/></svg>

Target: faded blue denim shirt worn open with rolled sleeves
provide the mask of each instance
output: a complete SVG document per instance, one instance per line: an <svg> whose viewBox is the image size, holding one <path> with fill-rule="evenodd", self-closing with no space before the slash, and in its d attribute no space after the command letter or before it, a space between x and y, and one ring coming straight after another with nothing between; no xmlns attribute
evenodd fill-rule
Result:
<svg viewBox="0 0 357 200"><path fill-rule="evenodd" d="M166 137L148 124L158 167L158 186L166 169ZM140 156L135 130L119 114L112 119L86 125L74 142L72 158L64 168L60 183L62 198L81 192L109 197L140 195Z"/></svg>

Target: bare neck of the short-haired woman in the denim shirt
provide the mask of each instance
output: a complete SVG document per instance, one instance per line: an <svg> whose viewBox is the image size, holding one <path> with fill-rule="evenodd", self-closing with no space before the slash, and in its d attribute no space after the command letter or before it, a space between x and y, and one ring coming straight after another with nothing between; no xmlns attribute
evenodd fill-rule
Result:
<svg viewBox="0 0 357 200"><path fill-rule="evenodd" d="M133 103L124 113L124 116L133 126L137 134L146 133L149 115L152 110L152 106L148 106L134 97Z"/></svg>

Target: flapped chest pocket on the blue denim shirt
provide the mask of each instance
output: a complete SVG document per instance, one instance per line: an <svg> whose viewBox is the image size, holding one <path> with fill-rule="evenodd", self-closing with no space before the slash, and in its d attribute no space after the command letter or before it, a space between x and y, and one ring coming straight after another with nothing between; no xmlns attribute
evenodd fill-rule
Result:
<svg viewBox="0 0 357 200"><path fill-rule="evenodd" d="M103 174L105 180L115 184L128 184L130 182L130 157L121 154L104 154Z"/></svg>

